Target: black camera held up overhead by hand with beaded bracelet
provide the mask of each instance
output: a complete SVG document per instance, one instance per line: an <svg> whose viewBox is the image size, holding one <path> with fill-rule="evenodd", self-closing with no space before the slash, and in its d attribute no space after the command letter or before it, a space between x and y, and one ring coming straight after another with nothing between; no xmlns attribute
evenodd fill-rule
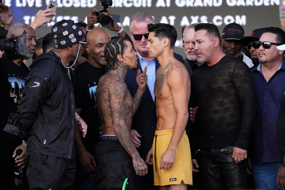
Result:
<svg viewBox="0 0 285 190"><path fill-rule="evenodd" d="M112 0L99 0L102 7L104 7L103 10L100 10L100 12L93 12L92 15L98 16L98 23L101 24L101 26L108 28L109 26L112 25L113 20L111 17L104 15L103 12L108 12L107 8L109 6L112 6L113 1Z"/></svg>

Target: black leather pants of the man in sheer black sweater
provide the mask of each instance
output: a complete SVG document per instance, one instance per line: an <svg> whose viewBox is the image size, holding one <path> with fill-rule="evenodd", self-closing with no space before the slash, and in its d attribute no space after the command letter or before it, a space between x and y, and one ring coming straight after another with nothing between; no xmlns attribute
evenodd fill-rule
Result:
<svg viewBox="0 0 285 190"><path fill-rule="evenodd" d="M197 150L203 189L247 189L248 159L236 164L232 153L233 146Z"/></svg>

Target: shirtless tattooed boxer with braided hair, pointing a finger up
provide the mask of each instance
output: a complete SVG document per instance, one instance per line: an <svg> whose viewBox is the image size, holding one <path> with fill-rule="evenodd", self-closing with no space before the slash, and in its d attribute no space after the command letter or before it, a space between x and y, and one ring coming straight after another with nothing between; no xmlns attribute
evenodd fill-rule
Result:
<svg viewBox="0 0 285 190"><path fill-rule="evenodd" d="M143 73L137 72L139 88L132 98L124 82L127 70L137 69L137 53L131 42L125 38L109 41L105 46L105 59L109 71L99 79L96 90L102 121L101 140L95 146L96 189L122 189L126 178L126 189L132 189L132 164L137 175L148 173L130 134L132 117L147 85L147 67Z"/></svg>

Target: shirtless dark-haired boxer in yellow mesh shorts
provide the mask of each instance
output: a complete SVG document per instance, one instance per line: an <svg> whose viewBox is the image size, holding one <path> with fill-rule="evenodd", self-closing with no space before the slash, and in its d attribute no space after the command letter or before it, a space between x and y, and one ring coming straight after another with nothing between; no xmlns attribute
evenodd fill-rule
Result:
<svg viewBox="0 0 285 190"><path fill-rule="evenodd" d="M189 140L185 132L188 121L190 79L185 66L174 58L176 29L169 24L148 25L150 57L160 63L156 72L157 125L153 146L146 163L153 164L154 185L160 190L186 190L192 185Z"/></svg>

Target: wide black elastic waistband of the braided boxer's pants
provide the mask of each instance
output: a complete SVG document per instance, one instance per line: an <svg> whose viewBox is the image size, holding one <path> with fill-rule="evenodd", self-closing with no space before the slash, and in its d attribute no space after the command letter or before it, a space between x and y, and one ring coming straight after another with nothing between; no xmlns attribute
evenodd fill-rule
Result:
<svg viewBox="0 0 285 190"><path fill-rule="evenodd" d="M130 160L131 156L126 151L117 151L107 154L102 154L94 157L96 164L112 162L117 160Z"/></svg>

